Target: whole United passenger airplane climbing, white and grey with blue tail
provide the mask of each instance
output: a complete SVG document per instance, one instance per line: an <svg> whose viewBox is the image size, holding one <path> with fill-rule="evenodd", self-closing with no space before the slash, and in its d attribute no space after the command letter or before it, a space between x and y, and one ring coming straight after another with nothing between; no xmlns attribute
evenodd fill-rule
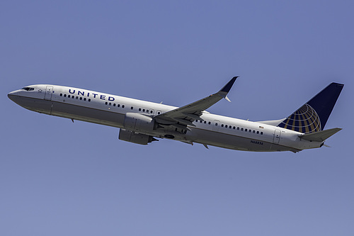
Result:
<svg viewBox="0 0 354 236"><path fill-rule="evenodd" d="M236 79L217 93L182 107L52 84L25 86L10 92L8 98L30 111L120 128L120 140L139 145L166 138L206 148L299 152L322 147L341 130L324 130L344 86L335 82L280 120L253 122L205 111L221 99L229 101L227 94Z"/></svg>

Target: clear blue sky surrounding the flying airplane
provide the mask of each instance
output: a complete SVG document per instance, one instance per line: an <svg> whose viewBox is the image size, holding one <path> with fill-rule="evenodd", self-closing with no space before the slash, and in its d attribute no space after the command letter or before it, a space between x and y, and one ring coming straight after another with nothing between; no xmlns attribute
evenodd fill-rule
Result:
<svg viewBox="0 0 354 236"><path fill-rule="evenodd" d="M1 235L352 235L353 1L1 1ZM345 84L317 150L140 146L7 98L59 84L212 113L290 115Z"/></svg>

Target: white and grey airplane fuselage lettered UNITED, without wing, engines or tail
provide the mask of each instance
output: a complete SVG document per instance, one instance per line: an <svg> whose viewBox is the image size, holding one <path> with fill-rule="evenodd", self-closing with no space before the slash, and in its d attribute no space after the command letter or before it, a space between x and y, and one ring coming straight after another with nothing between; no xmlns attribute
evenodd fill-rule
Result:
<svg viewBox="0 0 354 236"><path fill-rule="evenodd" d="M156 116L175 109L160 103L152 103L101 92L77 89L68 86L38 84L34 91L23 89L8 94L18 105L31 111L82 120L116 128L125 128L126 113L142 113ZM173 140L213 145L232 150L255 152L292 151L321 147L323 142L310 142L298 137L302 133L279 128L265 123L240 120L203 112L202 120L195 120L190 130L180 132L176 128L163 128L151 131L132 130L144 135L169 138Z"/></svg>

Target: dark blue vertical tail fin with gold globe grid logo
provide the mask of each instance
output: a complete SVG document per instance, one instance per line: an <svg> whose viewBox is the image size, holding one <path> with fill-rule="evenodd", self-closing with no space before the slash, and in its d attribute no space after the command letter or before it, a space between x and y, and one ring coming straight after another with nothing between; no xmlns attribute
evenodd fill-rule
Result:
<svg viewBox="0 0 354 236"><path fill-rule="evenodd" d="M310 101L282 120L278 127L300 133L313 133L324 130L344 84L331 83L316 94Z"/></svg>

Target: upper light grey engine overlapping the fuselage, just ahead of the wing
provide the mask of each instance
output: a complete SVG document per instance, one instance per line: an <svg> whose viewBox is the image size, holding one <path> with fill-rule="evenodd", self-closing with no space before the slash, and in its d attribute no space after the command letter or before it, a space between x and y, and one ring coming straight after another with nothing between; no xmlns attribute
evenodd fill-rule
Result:
<svg viewBox="0 0 354 236"><path fill-rule="evenodd" d="M139 113L125 113L123 126L127 130L152 131L154 119Z"/></svg>

